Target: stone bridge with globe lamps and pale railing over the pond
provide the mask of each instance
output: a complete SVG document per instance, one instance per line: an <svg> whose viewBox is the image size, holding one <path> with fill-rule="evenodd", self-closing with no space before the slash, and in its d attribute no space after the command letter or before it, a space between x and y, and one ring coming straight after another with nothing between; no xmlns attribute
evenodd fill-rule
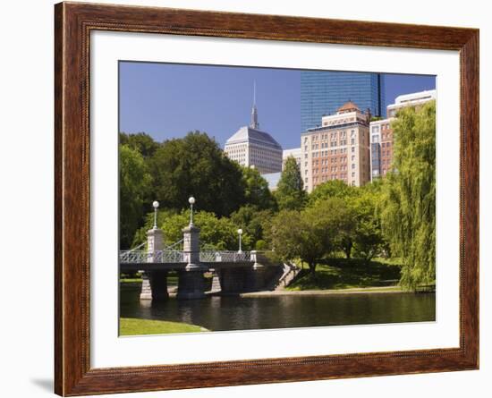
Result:
<svg viewBox="0 0 492 398"><path fill-rule="evenodd" d="M192 217L182 233L182 241L176 242L182 248L165 248L164 233L155 223L147 233L147 250L120 251L120 272L142 272L140 300L166 300L169 271L178 274L180 300L206 297L206 272L213 275L212 291L223 294L267 290L284 272L284 265L271 263L258 251L200 250L199 228Z"/></svg>

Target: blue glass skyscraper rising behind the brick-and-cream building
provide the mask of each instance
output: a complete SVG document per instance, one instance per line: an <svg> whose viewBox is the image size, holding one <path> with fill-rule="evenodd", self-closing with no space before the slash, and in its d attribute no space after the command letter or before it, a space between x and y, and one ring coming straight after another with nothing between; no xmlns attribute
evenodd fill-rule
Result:
<svg viewBox="0 0 492 398"><path fill-rule="evenodd" d="M301 71L301 131L321 124L352 101L374 116L385 116L385 76L382 73Z"/></svg>

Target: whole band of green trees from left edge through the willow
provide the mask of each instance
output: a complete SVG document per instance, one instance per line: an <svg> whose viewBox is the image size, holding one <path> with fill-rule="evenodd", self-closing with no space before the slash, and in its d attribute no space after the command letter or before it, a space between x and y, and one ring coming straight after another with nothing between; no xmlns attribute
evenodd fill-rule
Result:
<svg viewBox="0 0 492 398"><path fill-rule="evenodd" d="M385 178L358 188L324 182L309 195L289 157L270 192L254 168L225 157L215 140L194 131L157 143L145 133L120 134L122 247L146 240L153 224L152 200L160 202L157 224L165 243L182 239L189 222L188 198L197 202L195 224L206 248L274 250L276 258L308 264L315 275L326 258L400 258L401 285L435 282L436 107L405 108L392 124L394 164ZM349 261L349 260L346 260Z"/></svg>

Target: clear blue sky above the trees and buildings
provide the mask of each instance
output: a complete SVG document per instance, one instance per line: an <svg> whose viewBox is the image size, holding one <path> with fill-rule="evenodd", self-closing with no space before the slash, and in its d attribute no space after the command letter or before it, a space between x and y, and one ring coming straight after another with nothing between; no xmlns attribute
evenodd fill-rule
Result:
<svg viewBox="0 0 492 398"><path fill-rule="evenodd" d="M250 123L255 80L261 130L283 148L299 147L301 72L288 69L121 62L120 131L157 141L206 131L223 147ZM386 74L386 105L435 88L434 76Z"/></svg>

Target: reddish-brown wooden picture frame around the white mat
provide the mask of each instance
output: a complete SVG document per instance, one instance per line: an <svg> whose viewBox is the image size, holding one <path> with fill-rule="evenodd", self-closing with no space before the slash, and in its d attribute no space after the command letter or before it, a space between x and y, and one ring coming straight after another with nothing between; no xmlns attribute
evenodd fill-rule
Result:
<svg viewBox="0 0 492 398"><path fill-rule="evenodd" d="M135 368L89 362L89 34L92 30L256 38L460 52L460 346ZM55 393L250 385L479 368L479 30L217 13L55 5Z"/></svg>

